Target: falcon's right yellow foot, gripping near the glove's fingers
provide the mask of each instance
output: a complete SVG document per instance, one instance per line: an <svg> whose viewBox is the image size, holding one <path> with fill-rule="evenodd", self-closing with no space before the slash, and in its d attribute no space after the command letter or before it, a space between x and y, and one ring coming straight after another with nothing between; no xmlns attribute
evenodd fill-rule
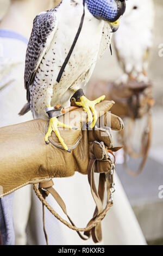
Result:
<svg viewBox="0 0 163 256"><path fill-rule="evenodd" d="M99 97L96 100L90 101L85 96L80 97L80 102L76 102L76 105L82 106L87 113L87 120L90 128L92 129L97 122L97 112L95 105L105 99L105 95ZM92 113L91 113L92 112Z"/></svg>

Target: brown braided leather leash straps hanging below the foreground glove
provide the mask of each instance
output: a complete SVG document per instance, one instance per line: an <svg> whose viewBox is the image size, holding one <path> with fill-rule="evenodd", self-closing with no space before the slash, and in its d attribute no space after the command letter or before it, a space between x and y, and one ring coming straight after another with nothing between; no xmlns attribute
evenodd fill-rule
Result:
<svg viewBox="0 0 163 256"><path fill-rule="evenodd" d="M36 193L36 196L42 202L43 230L44 230L44 233L45 233L45 238L46 238L47 245L48 245L48 237L47 237L46 230L45 230L45 210L44 210L44 206L46 206L46 208L49 211L51 211L51 213L55 217L57 217L59 221L64 223L68 228L76 230L78 235L80 236L80 238L82 238L83 240L89 239L91 237L91 235L92 235L92 239L93 239L94 242L100 242L102 240L101 221L103 220L106 213L108 212L108 210L113 205L113 202L112 202L112 192L113 192L112 191L112 185L113 185L114 170L111 170L110 174L102 173L102 174L99 175L99 187L98 187L98 192L97 192L96 185L95 185L95 177L94 177L95 162L96 162L96 159L90 160L90 162L89 162L88 179L89 179L89 184L90 184L90 187L91 187L91 193L92 193L93 199L95 200L95 203L96 203L96 209L95 209L95 212L93 214L93 218L87 224L86 228L77 228L76 225L74 225L71 218L67 214L66 205L65 205L64 201L59 196L57 191L55 191L54 188L52 187L54 185L52 179L41 182L39 184L39 188L36 184L34 184L34 191ZM114 168L114 164L113 164L113 168ZM106 185L107 185L108 200L107 200L107 204L106 204L105 209L103 209L105 182L106 182ZM62 211L64 211L65 215L68 217L68 220L71 222L71 224L68 223L67 221L65 221L64 219L62 219L57 214L57 212L55 212L53 210L53 208L46 202L46 197L48 196L49 193L51 193L52 196L54 197L54 199L57 201L57 203L61 207ZM84 237L82 234L80 234L80 232L84 232L84 235L87 236L87 237Z"/></svg>

